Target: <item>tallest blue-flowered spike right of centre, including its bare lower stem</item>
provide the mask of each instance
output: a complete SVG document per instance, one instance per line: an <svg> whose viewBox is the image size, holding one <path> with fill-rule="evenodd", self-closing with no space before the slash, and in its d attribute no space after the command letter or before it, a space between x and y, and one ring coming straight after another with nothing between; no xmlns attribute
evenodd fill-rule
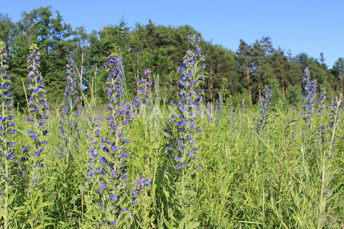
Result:
<svg viewBox="0 0 344 229"><path fill-rule="evenodd" d="M182 77L178 82L180 89L180 100L171 101L171 104L176 104L179 115L168 118L167 128L164 129L166 135L167 155L174 158L174 185L176 187L176 201L178 204L178 220L179 228L183 229L187 224L188 209L186 200L190 196L185 192L190 184L190 172L193 169L193 164L196 161L196 152L198 151L196 134L202 131L201 128L196 128L198 124L198 115L201 114L200 105L203 101L204 90L198 89L200 83L204 81L205 67L204 55L201 55L201 47L199 47L200 37L197 35L189 35L191 45L194 49L187 49L184 56L183 66L181 68ZM198 167L201 169L200 167ZM168 170L166 170L168 172Z"/></svg>

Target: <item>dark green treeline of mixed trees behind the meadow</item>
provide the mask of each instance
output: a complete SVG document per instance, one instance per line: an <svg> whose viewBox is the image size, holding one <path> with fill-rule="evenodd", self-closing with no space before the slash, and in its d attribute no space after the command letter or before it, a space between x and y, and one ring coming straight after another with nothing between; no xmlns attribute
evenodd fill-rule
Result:
<svg viewBox="0 0 344 229"><path fill-rule="evenodd" d="M8 15L0 14L0 40L10 50L12 78L11 90L16 106L26 105L23 84L28 84L26 55L32 43L40 48L41 71L52 104L62 101L67 85L64 72L68 58L76 61L83 79L82 90L95 95L99 103L105 101L106 71L103 69L111 51L123 56L128 91L136 94L137 82L144 68L151 68L155 81L160 81L164 102L176 98L176 81L180 78L181 58L189 48L186 36L198 34L189 25L179 27L136 24L130 29L125 21L87 33L84 27L73 29L65 23L58 11L41 7L23 12L19 22L12 22ZM263 37L253 44L239 41L235 51L201 40L200 47L206 59L205 101L218 99L218 92L231 96L234 105L244 99L247 105L257 104L264 85L272 89L273 103L280 106L299 104L302 98L303 69L309 67L311 78L318 88L326 89L328 96L343 92L344 59L339 58L330 69L319 59L305 53L292 56L290 51L273 47L270 37ZM155 84L153 85L153 87Z"/></svg>

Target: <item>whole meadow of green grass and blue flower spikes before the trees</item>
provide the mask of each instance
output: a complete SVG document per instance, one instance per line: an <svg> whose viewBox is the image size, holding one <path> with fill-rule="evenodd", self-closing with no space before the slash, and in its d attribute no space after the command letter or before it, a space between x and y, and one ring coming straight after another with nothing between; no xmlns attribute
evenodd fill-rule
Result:
<svg viewBox="0 0 344 229"><path fill-rule="evenodd" d="M343 96L326 98L306 68L297 108L271 104L269 85L259 111L224 91L205 104L206 57L187 39L169 104L149 68L130 98L115 52L106 104L84 96L69 59L65 100L51 106L33 44L25 113L0 43L0 228L343 228Z"/></svg>

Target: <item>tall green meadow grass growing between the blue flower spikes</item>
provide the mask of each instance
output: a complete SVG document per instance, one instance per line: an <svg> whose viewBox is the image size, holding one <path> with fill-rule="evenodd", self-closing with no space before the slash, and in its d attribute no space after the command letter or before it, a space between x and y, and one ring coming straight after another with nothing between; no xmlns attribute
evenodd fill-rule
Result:
<svg viewBox="0 0 344 229"><path fill-rule="evenodd" d="M125 148L130 155L125 167L128 184L121 189L127 196L118 199L121 201L116 204L118 208L111 209L119 217L116 224L103 223L104 216L95 208L99 198L97 188L88 189L87 184L88 150L92 144L87 140L92 125L89 117L99 118L99 136L110 134L107 114L103 112L106 107L97 104L87 112L80 112L81 131L77 135L80 145L74 149L68 165L58 154L60 112L51 110L50 136L42 159L45 168L40 174L40 183L44 185L37 192L40 195L23 198L18 190L25 188L25 183L19 172L25 163L14 167L12 174L16 175L10 190L4 192L1 179L0 228L5 228L4 220L6 229L344 228L342 95L326 101L323 114L312 118L307 141L302 131L301 111L281 111L270 106L261 129L253 120L259 117L258 110L233 107L230 100L222 100L218 102L221 109L211 109L210 114L202 104L203 131L194 139L199 148L197 163L192 164L190 172L185 172L182 187L178 186L173 171L167 171L171 160L165 151L168 142L163 132L167 118L177 112L154 101L136 113L130 128L123 130L131 139ZM209 117L214 120L209 122ZM20 162L20 148L30 141L24 131L29 127L26 118L26 113L14 113L18 130L14 137L17 147L14 162ZM317 140L319 126L324 126L323 142ZM134 190L139 190L137 179L147 179L147 186L141 187L135 205L127 205L125 200L131 201ZM178 203L179 192L183 192L183 205ZM4 193L11 199L6 208ZM130 208L130 214L120 214L120 207L123 211L125 206ZM35 221L30 223L31 219Z"/></svg>

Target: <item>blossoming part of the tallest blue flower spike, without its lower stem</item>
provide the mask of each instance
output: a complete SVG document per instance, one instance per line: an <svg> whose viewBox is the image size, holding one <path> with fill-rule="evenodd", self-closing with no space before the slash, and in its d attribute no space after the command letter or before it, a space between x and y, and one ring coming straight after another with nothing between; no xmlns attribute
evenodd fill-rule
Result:
<svg viewBox="0 0 344 229"><path fill-rule="evenodd" d="M204 56L201 55L201 48L198 46L200 37L197 35L188 37L192 40L191 44L194 49L187 49L186 55L182 59L182 76L178 85L180 102L171 101L171 104L178 107L179 115L171 116L167 120L168 128L164 130L166 133L164 138L168 141L166 142L166 151L168 151L168 155L172 155L170 152L174 152L175 158L178 158L178 163L174 166L177 169L186 168L187 164L195 159L191 157L195 142L193 138L198 131L196 118L201 114L200 104L204 94L202 89L196 91L204 80ZM177 129L175 133L172 131L173 127Z"/></svg>

